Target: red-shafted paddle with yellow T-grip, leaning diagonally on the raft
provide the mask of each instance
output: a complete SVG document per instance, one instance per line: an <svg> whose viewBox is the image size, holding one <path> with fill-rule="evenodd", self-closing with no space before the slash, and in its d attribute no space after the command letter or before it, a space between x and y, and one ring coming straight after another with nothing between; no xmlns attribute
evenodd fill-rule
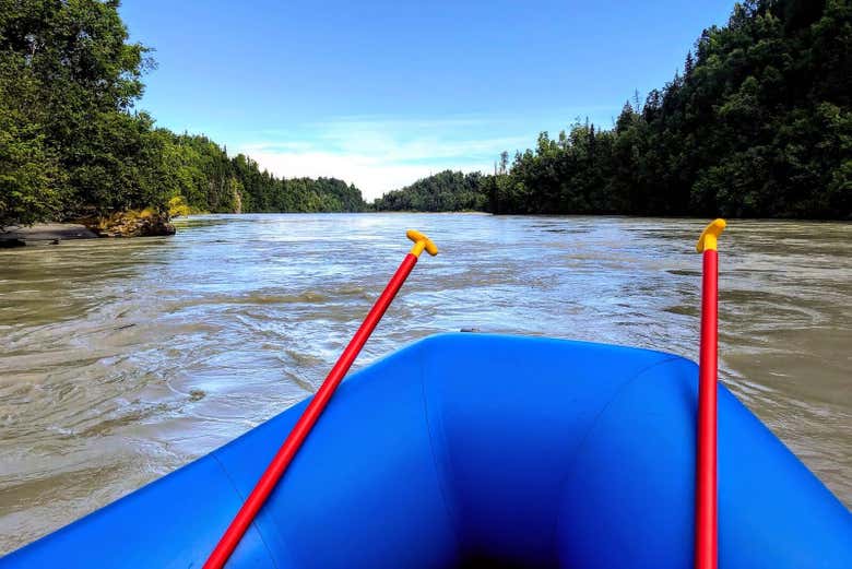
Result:
<svg viewBox="0 0 852 569"><path fill-rule="evenodd" d="M406 235L409 239L414 241L414 247L412 247L411 252L402 260L400 268L397 269L397 272L391 277L384 292L381 293L379 299L372 305L367 318L364 319L360 328L355 332L355 335L350 341L346 349L343 351L343 354L341 354L338 363L331 368L326 381L322 382L322 386L320 386L319 390L313 395L313 399L311 399L310 403L305 408L305 412L293 427L293 430L287 436L284 444L281 446L270 465L267 466L267 471L260 477L255 489L251 490L248 499L239 509L234 521L230 522L230 525L220 540L216 548L213 549L213 553L208 558L208 561L204 564L204 569L220 569L228 560L228 557L230 557L230 554L242 538L242 534L245 534L248 526L251 525L258 511L260 511L260 508L275 488L275 485L287 470L287 466L296 455L296 452L305 441L305 438L310 432L313 424L317 423L317 419L322 414L322 411L329 403L334 390L338 389L338 386L343 380L346 371L352 367L360 348L364 347L367 339L376 329L376 324L379 323L379 320L381 320L381 317L384 315L388 306L390 306L393 297L397 296L402 283L405 282L405 278L409 276L412 269L414 269L414 265L417 263L417 258L423 250L425 249L431 256L438 254L438 248L435 247L431 239L422 233L409 229Z"/></svg>

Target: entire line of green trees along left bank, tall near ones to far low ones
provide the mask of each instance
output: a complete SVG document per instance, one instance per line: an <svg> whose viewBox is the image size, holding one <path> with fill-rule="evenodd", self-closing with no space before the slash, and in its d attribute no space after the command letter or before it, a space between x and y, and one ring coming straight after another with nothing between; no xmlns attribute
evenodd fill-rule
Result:
<svg viewBox="0 0 852 569"><path fill-rule="evenodd" d="M0 0L0 227L151 208L360 211L336 179L277 179L138 111L150 50L117 0Z"/></svg>

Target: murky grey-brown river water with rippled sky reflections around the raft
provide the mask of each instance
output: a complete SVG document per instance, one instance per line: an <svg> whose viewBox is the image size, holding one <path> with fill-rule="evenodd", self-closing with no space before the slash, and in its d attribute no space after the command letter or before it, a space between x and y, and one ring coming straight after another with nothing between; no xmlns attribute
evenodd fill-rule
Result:
<svg viewBox="0 0 852 569"><path fill-rule="evenodd" d="M174 238L0 251L0 553L312 392L409 248L424 259L357 365L441 331L695 357L701 222L242 215ZM734 222L725 382L852 502L852 226Z"/></svg>

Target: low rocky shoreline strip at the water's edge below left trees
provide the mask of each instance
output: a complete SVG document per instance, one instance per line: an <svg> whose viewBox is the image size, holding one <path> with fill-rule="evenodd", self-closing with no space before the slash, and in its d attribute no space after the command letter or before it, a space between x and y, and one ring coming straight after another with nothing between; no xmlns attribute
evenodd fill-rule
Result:
<svg viewBox="0 0 852 569"><path fill-rule="evenodd" d="M98 237L154 237L174 235L175 226L166 215L150 210L129 211L81 220L81 223L39 223L0 228L0 249L27 244L52 244L67 239Z"/></svg>

